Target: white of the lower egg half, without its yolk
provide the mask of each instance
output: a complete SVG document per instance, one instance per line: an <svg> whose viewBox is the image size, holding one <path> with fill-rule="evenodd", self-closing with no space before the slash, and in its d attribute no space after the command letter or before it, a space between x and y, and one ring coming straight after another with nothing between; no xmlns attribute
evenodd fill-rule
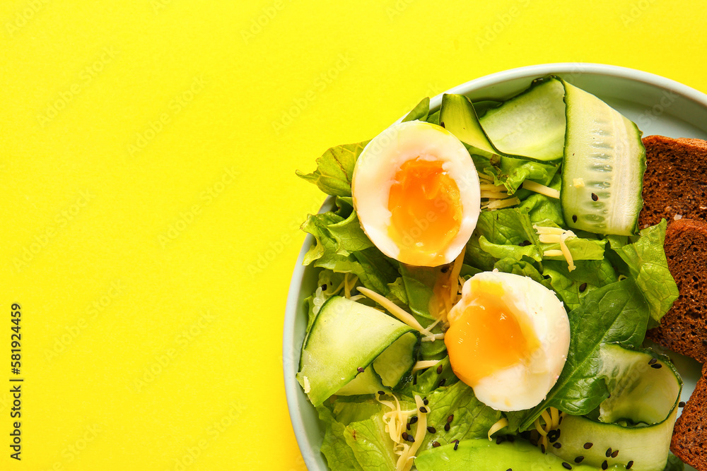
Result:
<svg viewBox="0 0 707 471"><path fill-rule="evenodd" d="M530 353L530 359L522 359L470 386L474 395L493 409L530 409L547 396L566 362L570 345L567 312L556 294L539 282L521 275L493 271L474 275L464 283L462 298L449 314L450 324L453 325L464 309L474 302L474 279L503 286L502 301L521 326L530 326L539 347ZM464 368L464 359L450 357L450 362L455 371Z"/></svg>

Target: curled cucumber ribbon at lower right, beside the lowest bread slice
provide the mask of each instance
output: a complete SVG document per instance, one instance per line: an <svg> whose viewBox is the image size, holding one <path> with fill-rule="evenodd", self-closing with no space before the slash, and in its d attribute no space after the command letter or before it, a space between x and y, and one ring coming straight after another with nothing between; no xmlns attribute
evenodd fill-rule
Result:
<svg viewBox="0 0 707 471"><path fill-rule="evenodd" d="M555 455L575 463L600 467L628 465L641 471L662 471L677 418L682 380L667 357L652 350L629 350L603 345L600 376L606 378L609 398L598 419L565 415ZM592 443L586 448L587 443ZM609 450L611 448L611 450Z"/></svg>

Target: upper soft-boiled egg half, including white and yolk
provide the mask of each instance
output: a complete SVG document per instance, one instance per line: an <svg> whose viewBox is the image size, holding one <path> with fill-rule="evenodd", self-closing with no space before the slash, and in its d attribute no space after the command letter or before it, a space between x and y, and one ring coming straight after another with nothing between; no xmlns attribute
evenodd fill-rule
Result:
<svg viewBox="0 0 707 471"><path fill-rule="evenodd" d="M383 254L440 266L461 253L479 217L479 176L464 145L436 124L407 121L373 138L351 181L361 227Z"/></svg>

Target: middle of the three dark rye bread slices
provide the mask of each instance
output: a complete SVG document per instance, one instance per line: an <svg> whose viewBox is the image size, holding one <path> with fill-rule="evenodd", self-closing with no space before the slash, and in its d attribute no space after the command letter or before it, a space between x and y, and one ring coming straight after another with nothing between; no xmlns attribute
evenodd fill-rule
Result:
<svg viewBox="0 0 707 471"><path fill-rule="evenodd" d="M706 362L707 223L685 218L670 222L663 247L680 295L647 336L673 352Z"/></svg>

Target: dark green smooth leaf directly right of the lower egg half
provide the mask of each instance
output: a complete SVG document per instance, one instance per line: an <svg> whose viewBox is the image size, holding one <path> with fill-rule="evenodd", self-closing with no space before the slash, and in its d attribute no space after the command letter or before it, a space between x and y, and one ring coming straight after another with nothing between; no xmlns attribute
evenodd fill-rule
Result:
<svg viewBox="0 0 707 471"><path fill-rule="evenodd" d="M571 415L585 415L595 409L609 395L606 382L597 377L601 346L610 342L641 345L648 305L636 282L627 279L590 292L568 317L570 347L557 383L533 409L508 412L509 429L530 429L547 407Z"/></svg>

